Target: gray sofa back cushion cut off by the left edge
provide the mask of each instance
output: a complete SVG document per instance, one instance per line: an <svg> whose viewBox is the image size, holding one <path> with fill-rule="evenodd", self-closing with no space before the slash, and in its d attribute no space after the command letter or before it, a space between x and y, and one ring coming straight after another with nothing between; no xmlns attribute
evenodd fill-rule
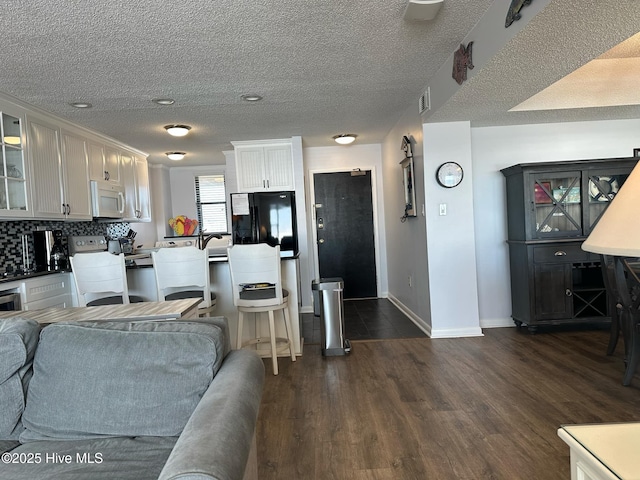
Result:
<svg viewBox="0 0 640 480"><path fill-rule="evenodd" d="M20 417L25 405L31 365L40 325L25 318L0 320L0 439L17 439L23 430Z"/></svg>

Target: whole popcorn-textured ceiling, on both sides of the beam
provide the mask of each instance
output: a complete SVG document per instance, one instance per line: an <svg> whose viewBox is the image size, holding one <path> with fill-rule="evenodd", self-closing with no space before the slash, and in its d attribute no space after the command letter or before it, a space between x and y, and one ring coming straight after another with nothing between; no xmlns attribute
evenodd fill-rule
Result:
<svg viewBox="0 0 640 480"><path fill-rule="evenodd" d="M417 111L429 79L493 3L445 0L435 20L406 22L406 2L5 0L0 91L152 163L176 165L164 156L174 150L188 153L180 165L224 163L234 140L300 135L304 146L325 146L349 132L379 143L408 108ZM505 114L635 33L638 3L552 1L428 121L535 120L537 112ZM244 93L264 100L249 104ZM159 97L176 103L151 102ZM625 108L637 116L636 107L614 115ZM169 123L193 129L173 139L162 128Z"/></svg>

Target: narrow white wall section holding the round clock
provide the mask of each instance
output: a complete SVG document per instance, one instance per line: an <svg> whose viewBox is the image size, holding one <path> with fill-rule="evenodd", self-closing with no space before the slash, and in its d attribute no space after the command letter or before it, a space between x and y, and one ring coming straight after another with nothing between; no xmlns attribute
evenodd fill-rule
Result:
<svg viewBox="0 0 640 480"><path fill-rule="evenodd" d="M481 335L470 124L425 124L423 136L431 337ZM436 169L446 161L455 161L464 170L462 183L455 188L436 181ZM446 205L446 215L439 213L441 204Z"/></svg>

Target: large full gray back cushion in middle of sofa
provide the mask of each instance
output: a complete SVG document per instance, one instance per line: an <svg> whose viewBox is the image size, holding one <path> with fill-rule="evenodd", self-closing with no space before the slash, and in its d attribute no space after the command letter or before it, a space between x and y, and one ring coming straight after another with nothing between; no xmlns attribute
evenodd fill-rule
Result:
<svg viewBox="0 0 640 480"><path fill-rule="evenodd" d="M188 322L64 322L42 330L20 441L177 436L225 354Z"/></svg>

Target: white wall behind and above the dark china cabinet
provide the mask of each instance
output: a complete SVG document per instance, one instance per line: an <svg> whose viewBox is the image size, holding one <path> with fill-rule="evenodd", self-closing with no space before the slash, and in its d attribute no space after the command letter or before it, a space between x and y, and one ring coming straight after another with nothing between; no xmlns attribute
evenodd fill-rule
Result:
<svg viewBox="0 0 640 480"><path fill-rule="evenodd" d="M478 304L482 327L513 325L506 244L506 190L500 169L517 163L630 157L633 149L640 147L638 132L640 120L471 130Z"/></svg>

